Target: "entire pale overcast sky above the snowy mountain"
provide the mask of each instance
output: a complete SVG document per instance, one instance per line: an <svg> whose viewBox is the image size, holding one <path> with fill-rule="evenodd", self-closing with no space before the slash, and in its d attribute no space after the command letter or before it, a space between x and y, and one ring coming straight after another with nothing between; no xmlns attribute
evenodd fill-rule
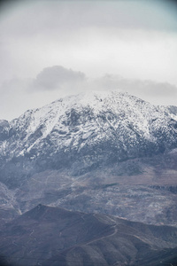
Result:
<svg viewBox="0 0 177 266"><path fill-rule="evenodd" d="M0 119L116 89L177 106L175 1L1 2Z"/></svg>

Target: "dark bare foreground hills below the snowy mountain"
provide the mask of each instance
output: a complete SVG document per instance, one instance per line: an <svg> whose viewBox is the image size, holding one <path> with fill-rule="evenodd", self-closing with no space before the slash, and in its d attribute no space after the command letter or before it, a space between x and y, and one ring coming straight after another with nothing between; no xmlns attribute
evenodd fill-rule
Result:
<svg viewBox="0 0 177 266"><path fill-rule="evenodd" d="M40 204L4 225L0 253L14 265L158 266L176 259L176 235L173 227Z"/></svg>

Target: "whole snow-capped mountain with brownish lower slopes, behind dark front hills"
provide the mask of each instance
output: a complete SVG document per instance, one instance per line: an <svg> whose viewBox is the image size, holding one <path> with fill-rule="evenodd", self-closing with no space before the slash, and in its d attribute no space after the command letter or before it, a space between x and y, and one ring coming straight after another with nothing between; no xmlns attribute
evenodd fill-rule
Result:
<svg viewBox="0 0 177 266"><path fill-rule="evenodd" d="M110 91L0 121L2 223L41 202L176 226L176 113Z"/></svg>

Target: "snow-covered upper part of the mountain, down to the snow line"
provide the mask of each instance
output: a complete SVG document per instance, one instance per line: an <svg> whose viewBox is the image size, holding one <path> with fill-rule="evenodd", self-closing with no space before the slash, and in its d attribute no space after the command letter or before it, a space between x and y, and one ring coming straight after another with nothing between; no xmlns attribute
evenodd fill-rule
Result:
<svg viewBox="0 0 177 266"><path fill-rule="evenodd" d="M28 153L34 159L61 150L80 153L107 142L130 153L144 142L156 145L159 134L175 142L176 129L172 134L170 128L175 121L177 107L153 106L118 90L89 91L27 110L9 122L0 153L8 153L8 160Z"/></svg>

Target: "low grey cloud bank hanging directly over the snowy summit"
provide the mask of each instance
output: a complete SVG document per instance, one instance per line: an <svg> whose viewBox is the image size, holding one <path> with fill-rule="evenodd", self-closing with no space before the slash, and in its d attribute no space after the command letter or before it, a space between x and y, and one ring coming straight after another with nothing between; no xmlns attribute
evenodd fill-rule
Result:
<svg viewBox="0 0 177 266"><path fill-rule="evenodd" d="M89 90L121 90L154 105L177 106L177 87L169 82L125 78L104 74L91 78L64 66L49 66L30 79L12 79L0 84L0 119L12 120L27 109Z"/></svg>

